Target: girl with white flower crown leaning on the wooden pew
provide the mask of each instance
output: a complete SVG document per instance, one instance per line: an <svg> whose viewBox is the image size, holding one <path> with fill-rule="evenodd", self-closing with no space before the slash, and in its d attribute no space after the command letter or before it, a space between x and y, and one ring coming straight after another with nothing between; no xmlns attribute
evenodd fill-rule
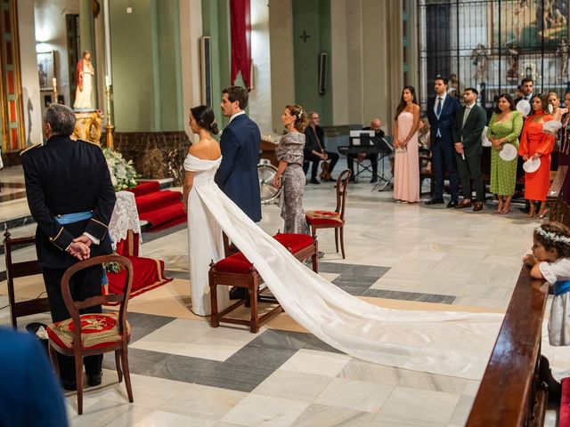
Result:
<svg viewBox="0 0 570 427"><path fill-rule="evenodd" d="M550 345L570 345L570 230L559 222L547 222L534 230L533 254L524 260L533 278L544 278L554 290L550 309Z"/></svg>

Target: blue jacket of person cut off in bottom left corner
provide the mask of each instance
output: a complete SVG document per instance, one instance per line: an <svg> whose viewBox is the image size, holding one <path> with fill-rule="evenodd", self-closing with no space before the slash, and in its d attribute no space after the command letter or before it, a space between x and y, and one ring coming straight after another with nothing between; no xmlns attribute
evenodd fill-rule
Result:
<svg viewBox="0 0 570 427"><path fill-rule="evenodd" d="M68 425L60 384L36 337L0 328L0 360L0 425Z"/></svg>

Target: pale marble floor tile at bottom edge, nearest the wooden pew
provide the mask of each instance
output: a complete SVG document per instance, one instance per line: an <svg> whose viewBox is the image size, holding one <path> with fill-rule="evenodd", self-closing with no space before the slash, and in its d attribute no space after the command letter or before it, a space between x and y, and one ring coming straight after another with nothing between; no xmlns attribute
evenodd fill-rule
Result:
<svg viewBox="0 0 570 427"><path fill-rule="evenodd" d="M452 418L459 399L459 394L397 386L380 409L377 419L445 424Z"/></svg>

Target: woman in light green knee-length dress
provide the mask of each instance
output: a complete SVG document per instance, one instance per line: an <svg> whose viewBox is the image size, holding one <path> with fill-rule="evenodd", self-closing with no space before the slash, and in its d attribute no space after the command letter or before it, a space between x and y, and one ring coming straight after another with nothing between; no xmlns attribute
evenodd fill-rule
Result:
<svg viewBox="0 0 570 427"><path fill-rule="evenodd" d="M517 156L512 160L503 160L499 153L505 144L512 144L518 149L518 135L523 129L523 116L515 109L513 99L503 93L493 112L487 138L493 144L491 148L491 192L497 195L499 206L495 214L509 214L510 200L515 193L517 181Z"/></svg>

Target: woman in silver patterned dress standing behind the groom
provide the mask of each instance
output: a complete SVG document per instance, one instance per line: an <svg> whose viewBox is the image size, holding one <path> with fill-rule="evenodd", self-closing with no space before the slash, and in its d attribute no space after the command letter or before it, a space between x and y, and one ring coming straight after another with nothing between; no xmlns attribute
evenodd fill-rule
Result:
<svg viewBox="0 0 570 427"><path fill-rule="evenodd" d="M309 234L309 227L303 210L305 173L303 172L303 149L305 127L308 123L305 111L300 105L288 105L281 116L287 134L281 138L275 149L279 167L273 177L273 186L282 188L279 199L281 218L285 221L284 232Z"/></svg>

